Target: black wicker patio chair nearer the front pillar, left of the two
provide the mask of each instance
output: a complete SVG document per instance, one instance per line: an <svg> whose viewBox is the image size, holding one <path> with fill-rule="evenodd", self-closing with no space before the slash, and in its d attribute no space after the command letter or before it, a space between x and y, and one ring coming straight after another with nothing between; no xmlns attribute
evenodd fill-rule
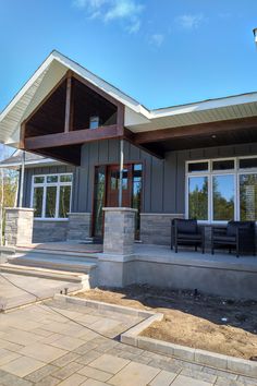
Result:
<svg viewBox="0 0 257 386"><path fill-rule="evenodd" d="M204 228L200 228L197 220L185 220L181 218L174 218L171 221L171 249L175 249L178 253L179 245L192 245L201 248L201 253L205 253L205 232Z"/></svg>

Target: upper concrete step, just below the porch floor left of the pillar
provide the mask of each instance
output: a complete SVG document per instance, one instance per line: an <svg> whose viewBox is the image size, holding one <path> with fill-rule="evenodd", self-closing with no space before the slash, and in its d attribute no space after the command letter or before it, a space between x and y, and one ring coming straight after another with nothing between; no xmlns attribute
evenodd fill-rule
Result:
<svg viewBox="0 0 257 386"><path fill-rule="evenodd" d="M85 257L51 255L44 253L15 254L8 263L19 266L39 267L70 273L89 274L97 264Z"/></svg>

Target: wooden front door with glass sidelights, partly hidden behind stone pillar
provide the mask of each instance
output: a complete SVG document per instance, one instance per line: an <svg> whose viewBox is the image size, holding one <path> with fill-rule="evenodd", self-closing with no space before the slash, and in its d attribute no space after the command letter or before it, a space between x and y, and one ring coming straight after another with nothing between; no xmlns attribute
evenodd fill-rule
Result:
<svg viewBox="0 0 257 386"><path fill-rule="evenodd" d="M142 206L142 164L127 164L122 173L122 206L137 209L136 239L139 238L139 213ZM102 207L119 206L119 165L98 166L95 170L93 236L103 234Z"/></svg>

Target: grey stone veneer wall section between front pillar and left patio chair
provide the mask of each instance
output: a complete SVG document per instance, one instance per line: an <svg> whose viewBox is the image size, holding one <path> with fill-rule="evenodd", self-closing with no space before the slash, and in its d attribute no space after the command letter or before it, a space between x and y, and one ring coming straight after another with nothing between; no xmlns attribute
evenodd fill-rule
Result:
<svg viewBox="0 0 257 386"><path fill-rule="evenodd" d="M140 240L145 244L170 245L171 220L184 214L140 213Z"/></svg>

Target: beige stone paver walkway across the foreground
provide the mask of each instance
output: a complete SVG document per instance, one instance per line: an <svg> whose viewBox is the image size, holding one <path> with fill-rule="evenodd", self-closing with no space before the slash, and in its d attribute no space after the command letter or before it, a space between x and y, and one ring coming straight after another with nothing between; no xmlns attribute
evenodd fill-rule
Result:
<svg viewBox="0 0 257 386"><path fill-rule="evenodd" d="M2 313L0 386L257 385L257 379L144 351L115 339L139 321L56 300Z"/></svg>

